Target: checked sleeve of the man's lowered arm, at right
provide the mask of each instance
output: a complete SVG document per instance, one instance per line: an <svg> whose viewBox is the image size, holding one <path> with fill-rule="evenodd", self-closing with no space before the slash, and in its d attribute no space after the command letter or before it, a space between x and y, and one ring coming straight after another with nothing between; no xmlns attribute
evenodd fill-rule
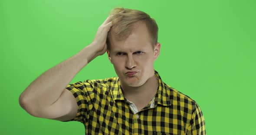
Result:
<svg viewBox="0 0 256 135"><path fill-rule="evenodd" d="M190 127L187 135L206 135L203 113L197 103L195 103L195 107L192 112L192 118L190 120Z"/></svg>

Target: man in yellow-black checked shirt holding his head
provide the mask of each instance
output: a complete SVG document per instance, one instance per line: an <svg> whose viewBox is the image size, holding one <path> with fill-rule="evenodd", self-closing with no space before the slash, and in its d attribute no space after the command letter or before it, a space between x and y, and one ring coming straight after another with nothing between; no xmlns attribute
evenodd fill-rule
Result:
<svg viewBox="0 0 256 135"><path fill-rule="evenodd" d="M86 135L206 135L198 104L154 70L161 48L157 36L148 14L115 8L93 42L34 80L20 105L35 117L82 122ZM69 84L106 51L118 77Z"/></svg>

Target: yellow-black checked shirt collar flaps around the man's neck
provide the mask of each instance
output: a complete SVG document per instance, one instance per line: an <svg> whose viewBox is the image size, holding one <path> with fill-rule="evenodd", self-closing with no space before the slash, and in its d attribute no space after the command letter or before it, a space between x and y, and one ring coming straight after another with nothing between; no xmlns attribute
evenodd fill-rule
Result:
<svg viewBox="0 0 256 135"><path fill-rule="evenodd" d="M168 93L167 93L166 84L164 84L159 73L156 70L154 70L154 75L158 79L158 90L154 96L154 105L157 105L157 104L161 104L163 106L171 105L170 97L168 96ZM125 96L121 90L121 84L119 81L119 77L115 77L114 84L111 88L111 94L112 94L112 98L114 99L114 101L115 100L125 100ZM170 93L169 93L169 95L170 95Z"/></svg>

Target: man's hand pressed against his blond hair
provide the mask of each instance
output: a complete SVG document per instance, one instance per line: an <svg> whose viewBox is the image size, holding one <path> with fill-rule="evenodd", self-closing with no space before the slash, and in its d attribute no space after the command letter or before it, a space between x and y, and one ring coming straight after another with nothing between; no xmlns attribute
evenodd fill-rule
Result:
<svg viewBox="0 0 256 135"><path fill-rule="evenodd" d="M123 13L123 12L124 12L124 10L122 10L119 13ZM108 18L105 20L105 22L102 23L102 25L98 27L98 31L95 35L95 38L93 39L92 44L90 44L93 46L93 48L95 48L97 50L96 51L97 56L103 55L106 52L106 50L107 50L106 40L107 40L108 31L110 30L110 28L112 27L112 25L114 23L117 23L121 19L121 17L118 17L117 19L112 20L112 18L111 18L112 16L113 15L108 16Z"/></svg>

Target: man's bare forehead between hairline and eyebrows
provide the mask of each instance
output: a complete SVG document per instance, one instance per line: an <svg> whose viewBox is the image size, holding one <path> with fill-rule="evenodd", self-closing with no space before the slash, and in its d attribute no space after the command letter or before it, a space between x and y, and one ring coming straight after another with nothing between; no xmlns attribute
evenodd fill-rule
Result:
<svg viewBox="0 0 256 135"><path fill-rule="evenodd" d="M112 33L111 33L112 34ZM115 36L111 36L111 50L112 51L134 51L136 49L151 48L151 37L148 33L146 25L142 22L136 22L133 27L133 32L127 39L118 41Z"/></svg>

